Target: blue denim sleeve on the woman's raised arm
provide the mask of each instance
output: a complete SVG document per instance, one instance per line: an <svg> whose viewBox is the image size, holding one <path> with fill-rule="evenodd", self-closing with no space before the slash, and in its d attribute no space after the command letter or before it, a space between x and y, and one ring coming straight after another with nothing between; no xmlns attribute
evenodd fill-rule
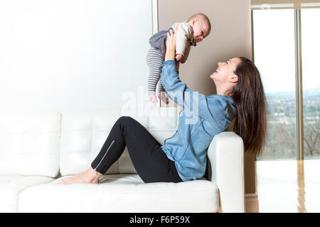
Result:
<svg viewBox="0 0 320 227"><path fill-rule="evenodd" d="M162 85L176 104L189 109L193 114L201 116L208 121L220 120L221 116L215 116L214 114L215 112L217 112L218 115L223 114L221 113L223 111L220 109L221 106L219 102L210 101L209 108L208 99L204 94L194 92L192 89L186 87L186 84L178 78L174 60L164 62L160 68L162 69ZM210 109L213 111L211 112Z"/></svg>

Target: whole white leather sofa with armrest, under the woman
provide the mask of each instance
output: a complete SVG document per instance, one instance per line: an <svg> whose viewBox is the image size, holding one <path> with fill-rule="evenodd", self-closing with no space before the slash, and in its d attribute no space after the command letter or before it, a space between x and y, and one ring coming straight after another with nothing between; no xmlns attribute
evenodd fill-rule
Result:
<svg viewBox="0 0 320 227"><path fill-rule="evenodd" d="M145 184L127 152L100 184L57 184L86 170L119 116L132 116L160 143L180 109L0 114L1 212L244 212L242 139L213 138L206 178Z"/></svg>

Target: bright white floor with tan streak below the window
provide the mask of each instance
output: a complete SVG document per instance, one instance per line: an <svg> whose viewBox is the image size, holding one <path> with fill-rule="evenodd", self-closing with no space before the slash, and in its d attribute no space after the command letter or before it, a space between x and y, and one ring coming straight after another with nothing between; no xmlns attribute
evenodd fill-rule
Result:
<svg viewBox="0 0 320 227"><path fill-rule="evenodd" d="M320 160L260 160L256 169L260 213L320 212Z"/></svg>

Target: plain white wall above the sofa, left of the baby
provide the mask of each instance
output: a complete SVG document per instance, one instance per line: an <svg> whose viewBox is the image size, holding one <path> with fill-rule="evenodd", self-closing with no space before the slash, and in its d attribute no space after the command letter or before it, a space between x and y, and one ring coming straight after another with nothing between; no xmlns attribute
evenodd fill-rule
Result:
<svg viewBox="0 0 320 227"><path fill-rule="evenodd" d="M151 35L151 1L1 0L0 111L103 109L144 97Z"/></svg>

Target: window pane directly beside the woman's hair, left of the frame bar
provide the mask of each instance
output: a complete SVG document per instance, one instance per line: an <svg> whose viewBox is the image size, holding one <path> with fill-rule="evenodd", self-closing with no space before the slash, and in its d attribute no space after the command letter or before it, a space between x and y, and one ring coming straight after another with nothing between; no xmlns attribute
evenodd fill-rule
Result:
<svg viewBox="0 0 320 227"><path fill-rule="evenodd" d="M270 112L262 158L296 157L294 10L253 11L255 64Z"/></svg>

